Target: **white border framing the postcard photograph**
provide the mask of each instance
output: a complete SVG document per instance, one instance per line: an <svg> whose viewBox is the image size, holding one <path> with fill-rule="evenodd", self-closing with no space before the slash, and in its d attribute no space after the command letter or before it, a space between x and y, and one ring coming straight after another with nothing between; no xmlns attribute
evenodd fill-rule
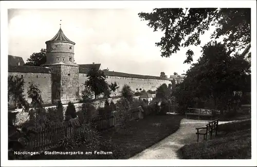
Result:
<svg viewBox="0 0 257 167"><path fill-rule="evenodd" d="M147 6L146 6L147 5ZM71 8L251 8L252 159L251 160L25 160L7 159L7 9ZM256 4L255 1L1 1L1 166L256 166ZM254 141L254 142L253 142Z"/></svg>

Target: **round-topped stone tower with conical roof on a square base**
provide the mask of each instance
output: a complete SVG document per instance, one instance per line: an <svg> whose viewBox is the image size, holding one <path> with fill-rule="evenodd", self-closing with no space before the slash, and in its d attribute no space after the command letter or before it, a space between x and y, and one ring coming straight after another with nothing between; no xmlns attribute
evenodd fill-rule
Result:
<svg viewBox="0 0 257 167"><path fill-rule="evenodd" d="M46 64L52 72L52 102L63 104L79 101L79 66L74 62L75 43L61 27L56 36L46 41Z"/></svg>

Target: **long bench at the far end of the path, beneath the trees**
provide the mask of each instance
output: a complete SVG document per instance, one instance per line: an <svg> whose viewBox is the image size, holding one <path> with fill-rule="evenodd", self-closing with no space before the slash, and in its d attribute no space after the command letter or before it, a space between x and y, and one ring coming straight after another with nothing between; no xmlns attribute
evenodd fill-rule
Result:
<svg viewBox="0 0 257 167"><path fill-rule="evenodd" d="M188 108L188 111L185 114L186 114L186 119L188 115L198 116L198 119L200 119L201 116L210 117L212 119L215 112L216 110L214 109Z"/></svg>

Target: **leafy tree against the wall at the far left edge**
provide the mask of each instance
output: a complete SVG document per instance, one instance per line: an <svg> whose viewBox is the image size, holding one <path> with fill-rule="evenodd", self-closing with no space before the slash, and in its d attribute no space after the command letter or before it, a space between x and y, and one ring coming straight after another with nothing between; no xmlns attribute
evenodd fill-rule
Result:
<svg viewBox="0 0 257 167"><path fill-rule="evenodd" d="M8 102L10 101L10 97L12 96L14 99L15 107L18 106L21 108L24 107L25 111L29 110L29 103L25 99L24 93L24 79L23 77L19 77L17 75L8 76Z"/></svg>

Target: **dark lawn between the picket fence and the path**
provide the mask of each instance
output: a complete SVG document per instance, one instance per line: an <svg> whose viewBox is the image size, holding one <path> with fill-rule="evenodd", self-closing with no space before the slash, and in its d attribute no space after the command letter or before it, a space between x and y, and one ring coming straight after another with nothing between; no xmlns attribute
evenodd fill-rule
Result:
<svg viewBox="0 0 257 167"><path fill-rule="evenodd" d="M126 133L116 132L115 129L102 132L102 142L112 139L117 149L124 152L117 159L128 159L143 151L151 145L159 142L163 138L176 132L179 128L182 116L179 115L158 115L148 116L144 119L133 120L126 124ZM80 148L68 151L88 152L88 148L81 145ZM95 150L91 150L94 152ZM104 150L103 150L104 151ZM114 151L115 154L115 151ZM93 158L94 157L94 158ZM87 156L87 155L36 155L30 159L105 159L107 156Z"/></svg>

